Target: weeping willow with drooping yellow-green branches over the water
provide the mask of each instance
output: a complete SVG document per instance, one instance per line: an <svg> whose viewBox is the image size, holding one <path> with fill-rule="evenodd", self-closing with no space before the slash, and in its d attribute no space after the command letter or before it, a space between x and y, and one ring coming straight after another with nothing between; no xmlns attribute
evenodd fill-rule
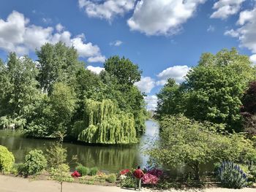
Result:
<svg viewBox="0 0 256 192"><path fill-rule="evenodd" d="M118 112L113 101L86 99L84 120L75 123L73 134L79 141L102 144L138 142L131 113Z"/></svg>

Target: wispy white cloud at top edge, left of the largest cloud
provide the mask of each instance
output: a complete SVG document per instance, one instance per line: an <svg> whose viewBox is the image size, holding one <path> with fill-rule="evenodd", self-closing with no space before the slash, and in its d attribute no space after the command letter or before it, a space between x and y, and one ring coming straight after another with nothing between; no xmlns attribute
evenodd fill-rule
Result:
<svg viewBox="0 0 256 192"><path fill-rule="evenodd" d="M78 0L79 7L91 18L113 20L134 8L135 0Z"/></svg>

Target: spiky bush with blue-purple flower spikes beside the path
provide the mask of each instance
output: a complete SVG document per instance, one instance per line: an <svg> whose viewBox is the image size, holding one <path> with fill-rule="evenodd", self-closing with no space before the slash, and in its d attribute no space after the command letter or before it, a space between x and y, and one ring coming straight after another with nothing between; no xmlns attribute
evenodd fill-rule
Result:
<svg viewBox="0 0 256 192"><path fill-rule="evenodd" d="M222 162L217 174L225 188L244 188L247 185L246 174L240 166L233 164L233 162Z"/></svg>

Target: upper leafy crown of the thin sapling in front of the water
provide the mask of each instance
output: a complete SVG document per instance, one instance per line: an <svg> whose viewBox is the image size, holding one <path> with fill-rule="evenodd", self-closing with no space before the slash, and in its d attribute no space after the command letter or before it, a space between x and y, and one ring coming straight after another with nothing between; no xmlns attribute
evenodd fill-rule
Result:
<svg viewBox="0 0 256 192"><path fill-rule="evenodd" d="M67 161L67 149L62 147L61 143L56 142L46 150L48 167L57 167Z"/></svg>

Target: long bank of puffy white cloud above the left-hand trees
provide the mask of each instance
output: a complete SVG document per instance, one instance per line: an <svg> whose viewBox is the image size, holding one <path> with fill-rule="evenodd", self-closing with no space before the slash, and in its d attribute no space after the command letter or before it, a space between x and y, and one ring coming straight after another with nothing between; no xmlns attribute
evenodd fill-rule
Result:
<svg viewBox="0 0 256 192"><path fill-rule="evenodd" d="M72 37L69 31L63 31L61 24L53 27L42 27L29 24L29 19L20 12L13 11L7 20L0 19L0 48L8 52L15 51L19 55L28 54L46 42L62 41L67 46L74 46L80 57L89 61L103 61L100 49L91 42L85 42L84 34ZM99 59L101 58L101 60Z"/></svg>

